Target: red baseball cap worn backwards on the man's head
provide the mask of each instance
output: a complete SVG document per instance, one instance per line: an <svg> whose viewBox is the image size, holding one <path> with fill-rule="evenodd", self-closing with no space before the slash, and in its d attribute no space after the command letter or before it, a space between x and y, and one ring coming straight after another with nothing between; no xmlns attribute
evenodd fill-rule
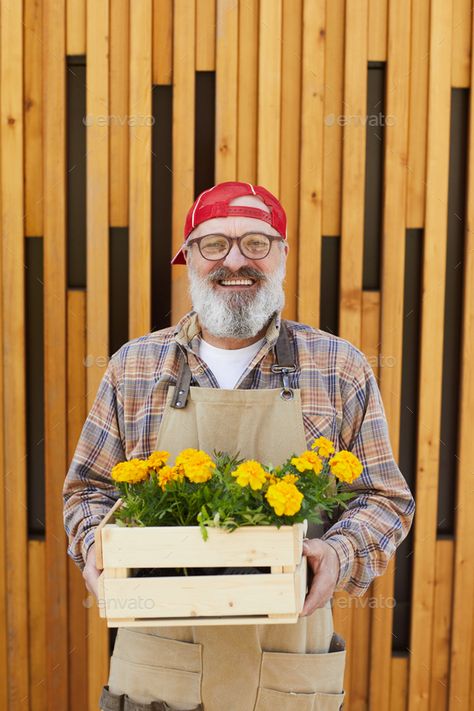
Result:
<svg viewBox="0 0 474 711"><path fill-rule="evenodd" d="M229 205L231 200L242 195L257 195L270 208L270 212L260 210L258 207L250 207L250 205ZM196 198L186 215L184 242L201 222L211 220L213 217L228 217L229 215L255 217L258 220L264 220L264 222L274 227L282 237L287 239L285 211L280 201L269 190L261 185L228 181L217 183L212 188L203 190ZM171 264L186 264L183 247L184 244L181 245L179 251L171 260Z"/></svg>

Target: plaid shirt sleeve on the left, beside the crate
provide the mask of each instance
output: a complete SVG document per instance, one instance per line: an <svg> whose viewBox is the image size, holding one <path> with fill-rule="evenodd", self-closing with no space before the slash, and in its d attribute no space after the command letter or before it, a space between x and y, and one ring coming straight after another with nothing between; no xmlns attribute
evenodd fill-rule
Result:
<svg viewBox="0 0 474 711"><path fill-rule="evenodd" d="M123 399L116 367L112 358L82 428L63 486L67 552L80 570L94 542L96 526L119 498L110 476L112 467L125 459L121 436Z"/></svg>

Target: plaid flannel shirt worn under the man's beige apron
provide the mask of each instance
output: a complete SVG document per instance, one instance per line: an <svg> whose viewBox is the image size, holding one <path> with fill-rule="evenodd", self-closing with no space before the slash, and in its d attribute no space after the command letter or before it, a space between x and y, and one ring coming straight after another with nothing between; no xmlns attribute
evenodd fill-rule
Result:
<svg viewBox="0 0 474 711"><path fill-rule="evenodd" d="M280 318L270 322L237 388L280 387L280 376L271 372ZM290 387L301 389L308 448L316 437L328 437L336 450L352 451L364 467L353 484L343 485L357 495L322 536L339 557L336 589L359 596L406 537L415 502L395 462L380 391L365 355L343 338L285 323L296 354ZM200 337L191 311L177 326L131 340L111 357L63 489L68 554L81 570L95 527L119 496L110 471L117 462L147 458L155 449L168 386L176 383L183 353L191 384L219 387L198 355Z"/></svg>

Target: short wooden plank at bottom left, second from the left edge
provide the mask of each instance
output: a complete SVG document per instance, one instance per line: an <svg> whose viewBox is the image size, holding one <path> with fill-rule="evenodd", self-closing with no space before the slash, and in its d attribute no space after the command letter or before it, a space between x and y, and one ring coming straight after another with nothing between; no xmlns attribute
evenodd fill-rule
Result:
<svg viewBox="0 0 474 711"><path fill-rule="evenodd" d="M28 627L30 664L30 711L46 711L46 555L43 541L28 543ZM51 708L51 705L50 705Z"/></svg>

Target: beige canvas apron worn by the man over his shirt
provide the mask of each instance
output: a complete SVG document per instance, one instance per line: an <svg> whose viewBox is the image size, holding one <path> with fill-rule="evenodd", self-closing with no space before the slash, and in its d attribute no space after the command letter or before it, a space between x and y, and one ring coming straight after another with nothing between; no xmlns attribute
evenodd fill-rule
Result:
<svg viewBox="0 0 474 711"><path fill-rule="evenodd" d="M280 388L190 387L178 409L171 387L156 449L170 452L171 461L195 447L280 464L307 448L300 391L292 393L284 399ZM106 689L110 698L128 696L125 709L336 711L345 655L331 602L288 625L120 628ZM158 700L169 706L141 706Z"/></svg>

